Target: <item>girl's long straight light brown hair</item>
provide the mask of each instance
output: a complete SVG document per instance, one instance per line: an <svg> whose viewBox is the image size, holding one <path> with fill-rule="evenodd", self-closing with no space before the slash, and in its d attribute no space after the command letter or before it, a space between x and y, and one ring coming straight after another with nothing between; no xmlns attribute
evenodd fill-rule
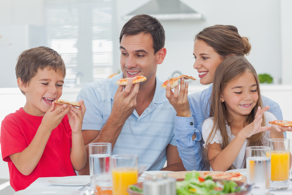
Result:
<svg viewBox="0 0 292 195"><path fill-rule="evenodd" d="M211 101L210 105L210 117L213 117L213 127L211 130L211 133L208 136L208 139L206 141L206 148L205 148L205 158L209 163L212 163L215 159L209 159L208 158L208 143L214 138L217 131L220 132L222 136L222 150L226 148L226 146L230 143L230 137L227 134L226 131L226 121L228 124L232 123L232 116L227 112L226 106L224 102L221 102L221 95L224 92L225 87L230 82L234 81L235 79L239 78L244 73L249 72L253 74L253 76L256 79L256 84L258 85L258 102L256 103L256 106L252 109L251 113L246 115L246 119L244 121L244 124L250 124L255 119L255 115L258 109L258 106L263 108L263 102L260 95L260 86L259 86L259 80L258 75L256 73L256 70L254 69L253 65L246 60L244 57L238 57L238 56L231 56L226 58L224 61L222 61L214 75L213 80L213 89L212 94L209 99ZM263 115L263 122L262 126L265 126L265 117ZM247 146L263 146L263 138L262 138L263 132L260 132L258 134L254 134L251 137L247 138L248 143ZM209 163L206 163L207 170L210 169ZM244 165L244 168L246 168L246 164ZM234 169L234 166L231 165L228 170Z"/></svg>

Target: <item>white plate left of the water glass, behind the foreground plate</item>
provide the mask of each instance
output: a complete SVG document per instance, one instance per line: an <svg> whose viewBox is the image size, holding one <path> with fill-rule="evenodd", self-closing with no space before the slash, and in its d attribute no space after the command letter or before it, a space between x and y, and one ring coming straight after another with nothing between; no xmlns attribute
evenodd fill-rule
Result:
<svg viewBox="0 0 292 195"><path fill-rule="evenodd" d="M77 175L67 177L54 177L48 180L51 184L60 186L84 186L90 182L89 175Z"/></svg>

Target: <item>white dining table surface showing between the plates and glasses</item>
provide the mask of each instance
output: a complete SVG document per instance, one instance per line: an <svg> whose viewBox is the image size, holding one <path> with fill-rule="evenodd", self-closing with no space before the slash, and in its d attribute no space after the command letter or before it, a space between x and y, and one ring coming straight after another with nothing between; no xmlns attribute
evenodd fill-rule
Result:
<svg viewBox="0 0 292 195"><path fill-rule="evenodd" d="M138 182L143 182L145 176L147 174L150 174L150 175L154 175L154 174L158 174L160 173L159 171L156 171L156 172L151 172L151 171L145 171L143 172L143 174L138 178ZM78 176L72 176L72 177L78 177ZM82 186L58 186L58 185L55 185L55 184L52 184L49 182L49 180L51 180L52 178L56 178L56 177L39 177L37 180L35 180L32 184L29 185L29 187L27 187L26 189L40 189L40 188L55 188L55 189L58 189L58 188L68 188L68 189L80 189ZM88 181L90 180L90 177L88 175ZM291 195L292 194L292 181L289 181L289 189L290 191L274 191L274 190L271 190L270 194L271 195ZM80 194L79 195L84 195L84 192L86 190L91 190L91 187L90 185L88 185L87 187L85 187L84 189L82 189L80 191ZM247 194L247 195L250 195L251 193Z"/></svg>

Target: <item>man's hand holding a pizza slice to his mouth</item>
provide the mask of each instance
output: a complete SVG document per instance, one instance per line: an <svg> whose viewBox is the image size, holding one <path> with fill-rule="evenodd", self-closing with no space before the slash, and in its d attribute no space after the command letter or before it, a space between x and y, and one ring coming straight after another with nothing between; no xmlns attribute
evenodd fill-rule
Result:
<svg viewBox="0 0 292 195"><path fill-rule="evenodd" d="M136 98L139 86L140 83L133 84L133 79L130 78L125 89L123 90L124 86L120 85L114 95L112 114L116 119L118 118L123 123L133 113L137 105Z"/></svg>

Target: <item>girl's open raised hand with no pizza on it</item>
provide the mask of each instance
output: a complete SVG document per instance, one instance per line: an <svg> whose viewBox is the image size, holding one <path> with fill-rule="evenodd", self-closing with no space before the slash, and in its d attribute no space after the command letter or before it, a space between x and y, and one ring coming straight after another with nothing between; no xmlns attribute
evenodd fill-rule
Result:
<svg viewBox="0 0 292 195"><path fill-rule="evenodd" d="M265 106L263 109L260 109L260 106L258 107L255 120L253 120L251 124L244 127L242 129L244 131L241 130L244 133L244 137L248 138L262 131L270 131L271 127L262 127L263 113L267 111L268 109L270 109L270 106Z"/></svg>

